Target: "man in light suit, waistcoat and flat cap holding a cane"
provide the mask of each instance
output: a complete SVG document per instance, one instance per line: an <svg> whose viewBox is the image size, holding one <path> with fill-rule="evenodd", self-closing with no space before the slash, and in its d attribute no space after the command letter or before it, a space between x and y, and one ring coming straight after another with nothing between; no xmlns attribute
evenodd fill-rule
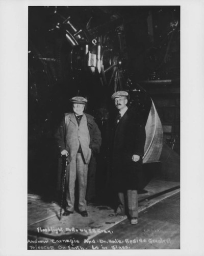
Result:
<svg viewBox="0 0 204 256"><path fill-rule="evenodd" d="M92 153L99 153L101 135L93 117L84 113L87 99L76 96L70 99L73 113L65 113L56 133L61 155L68 157L67 165L67 208L63 215L74 211L75 180L79 183L79 211L83 217L88 216L86 208L86 188L88 164Z"/></svg>

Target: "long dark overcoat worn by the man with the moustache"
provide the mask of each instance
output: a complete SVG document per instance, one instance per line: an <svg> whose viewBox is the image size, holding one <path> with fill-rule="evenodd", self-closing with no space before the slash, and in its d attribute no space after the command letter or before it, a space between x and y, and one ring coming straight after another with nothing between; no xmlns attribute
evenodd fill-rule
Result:
<svg viewBox="0 0 204 256"><path fill-rule="evenodd" d="M145 127L134 110L128 109L112 129L112 182L117 191L141 189L143 186L142 157L145 145ZM133 155L140 160L134 162Z"/></svg>

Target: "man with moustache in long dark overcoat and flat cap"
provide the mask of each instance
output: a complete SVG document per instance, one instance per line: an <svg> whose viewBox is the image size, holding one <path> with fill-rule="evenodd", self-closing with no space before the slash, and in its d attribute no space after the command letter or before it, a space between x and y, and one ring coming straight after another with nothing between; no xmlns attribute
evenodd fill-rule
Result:
<svg viewBox="0 0 204 256"><path fill-rule="evenodd" d="M136 111L127 108L129 94L118 91L112 95L118 115L113 124L112 177L117 191L117 214L125 215L125 198L131 224L138 222L138 193L142 188L142 157L144 156L145 127Z"/></svg>

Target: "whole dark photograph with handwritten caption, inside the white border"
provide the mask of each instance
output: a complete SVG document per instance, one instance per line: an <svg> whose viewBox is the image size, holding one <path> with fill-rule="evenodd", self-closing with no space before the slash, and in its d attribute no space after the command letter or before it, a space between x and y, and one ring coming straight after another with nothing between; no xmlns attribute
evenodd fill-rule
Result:
<svg viewBox="0 0 204 256"><path fill-rule="evenodd" d="M28 7L28 250L181 248L180 25Z"/></svg>

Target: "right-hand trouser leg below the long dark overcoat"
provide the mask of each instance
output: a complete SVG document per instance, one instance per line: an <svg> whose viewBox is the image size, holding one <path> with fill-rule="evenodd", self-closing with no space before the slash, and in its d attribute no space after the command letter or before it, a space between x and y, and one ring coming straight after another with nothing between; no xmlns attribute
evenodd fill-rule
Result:
<svg viewBox="0 0 204 256"><path fill-rule="evenodd" d="M127 190L127 205L131 218L138 218L138 194L137 190Z"/></svg>

